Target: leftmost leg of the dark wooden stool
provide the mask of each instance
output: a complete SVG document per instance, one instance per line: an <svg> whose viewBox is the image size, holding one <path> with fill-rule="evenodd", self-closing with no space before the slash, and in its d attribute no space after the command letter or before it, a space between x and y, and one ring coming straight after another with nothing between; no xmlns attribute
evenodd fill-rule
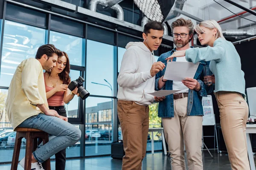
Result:
<svg viewBox="0 0 256 170"><path fill-rule="evenodd" d="M14 144L14 149L13 149L13 155L12 155L12 166L11 170L17 170L18 167L18 161L19 161L19 156L20 156L20 145L21 145L21 139L20 133L16 133L16 139L15 139L15 144Z"/></svg>

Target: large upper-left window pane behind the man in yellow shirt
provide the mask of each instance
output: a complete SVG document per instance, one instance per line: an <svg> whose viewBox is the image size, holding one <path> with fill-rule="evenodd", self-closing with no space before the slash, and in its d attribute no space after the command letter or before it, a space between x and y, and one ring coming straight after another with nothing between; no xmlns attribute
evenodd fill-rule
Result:
<svg viewBox="0 0 256 170"><path fill-rule="evenodd" d="M5 21L0 86L9 87L17 66L24 59L35 58L45 42L45 30L12 21Z"/></svg>

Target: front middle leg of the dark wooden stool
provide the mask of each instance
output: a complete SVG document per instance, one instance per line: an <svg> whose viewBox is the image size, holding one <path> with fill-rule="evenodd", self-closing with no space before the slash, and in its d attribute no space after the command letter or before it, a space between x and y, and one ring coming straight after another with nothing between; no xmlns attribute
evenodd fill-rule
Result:
<svg viewBox="0 0 256 170"><path fill-rule="evenodd" d="M26 156L25 156L25 168L24 170L31 170L31 156L32 156L32 147L33 147L33 139L31 132L26 133Z"/></svg>

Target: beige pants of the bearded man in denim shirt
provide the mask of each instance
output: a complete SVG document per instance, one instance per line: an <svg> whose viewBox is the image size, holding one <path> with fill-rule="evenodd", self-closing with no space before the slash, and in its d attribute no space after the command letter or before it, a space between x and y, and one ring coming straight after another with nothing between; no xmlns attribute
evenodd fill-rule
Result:
<svg viewBox="0 0 256 170"><path fill-rule="evenodd" d="M175 100L174 117L162 118L165 138L171 153L172 170L186 170L184 143L189 170L203 170L203 116L187 116L187 102L187 97Z"/></svg>

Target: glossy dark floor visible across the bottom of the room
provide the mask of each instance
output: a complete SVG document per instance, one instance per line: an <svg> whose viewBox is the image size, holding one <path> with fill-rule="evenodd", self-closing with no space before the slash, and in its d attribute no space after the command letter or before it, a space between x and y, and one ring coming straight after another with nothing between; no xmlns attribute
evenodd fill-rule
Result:
<svg viewBox="0 0 256 170"><path fill-rule="evenodd" d="M204 170L231 170L228 156L225 153L218 154L211 151L214 158L207 151L203 152ZM122 160L112 159L110 156L86 158L86 159L71 159L67 160L66 170L121 170ZM11 165L0 165L0 170L10 170ZM143 160L143 170L171 170L169 157L163 155L162 152L147 153ZM23 170L18 167L17 170ZM51 170L55 170L55 162L51 162Z"/></svg>

